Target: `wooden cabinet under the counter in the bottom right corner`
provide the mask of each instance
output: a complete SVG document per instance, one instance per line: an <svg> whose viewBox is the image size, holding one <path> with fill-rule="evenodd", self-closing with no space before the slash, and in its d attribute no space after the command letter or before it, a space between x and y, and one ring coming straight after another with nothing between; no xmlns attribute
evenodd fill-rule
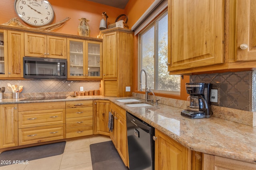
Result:
<svg viewBox="0 0 256 170"><path fill-rule="evenodd" d="M203 170L255 170L256 164L203 154Z"/></svg>

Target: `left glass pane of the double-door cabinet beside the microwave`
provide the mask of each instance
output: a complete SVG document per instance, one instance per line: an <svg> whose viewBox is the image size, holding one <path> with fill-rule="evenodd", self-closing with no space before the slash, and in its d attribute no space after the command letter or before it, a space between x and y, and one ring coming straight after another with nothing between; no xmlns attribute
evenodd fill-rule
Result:
<svg viewBox="0 0 256 170"><path fill-rule="evenodd" d="M70 76L84 76L83 42L70 41Z"/></svg>

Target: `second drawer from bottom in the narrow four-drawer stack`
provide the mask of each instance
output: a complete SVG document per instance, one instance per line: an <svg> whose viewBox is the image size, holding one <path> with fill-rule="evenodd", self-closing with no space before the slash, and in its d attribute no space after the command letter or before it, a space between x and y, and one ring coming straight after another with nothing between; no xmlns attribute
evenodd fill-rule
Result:
<svg viewBox="0 0 256 170"><path fill-rule="evenodd" d="M92 116L66 119L66 128L92 126Z"/></svg>

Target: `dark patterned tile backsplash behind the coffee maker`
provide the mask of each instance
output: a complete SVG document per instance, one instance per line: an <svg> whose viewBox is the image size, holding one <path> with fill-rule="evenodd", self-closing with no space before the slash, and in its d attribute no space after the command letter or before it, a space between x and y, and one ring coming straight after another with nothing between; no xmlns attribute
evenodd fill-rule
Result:
<svg viewBox="0 0 256 170"><path fill-rule="evenodd" d="M256 72L226 72L190 76L190 82L212 83L219 88L219 106L256 111Z"/></svg>

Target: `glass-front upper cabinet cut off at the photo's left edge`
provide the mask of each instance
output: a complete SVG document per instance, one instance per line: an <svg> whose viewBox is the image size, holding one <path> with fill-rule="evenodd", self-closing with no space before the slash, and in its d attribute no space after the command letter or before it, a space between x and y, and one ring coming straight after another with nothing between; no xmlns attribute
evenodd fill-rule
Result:
<svg viewBox="0 0 256 170"><path fill-rule="evenodd" d="M7 30L0 29L0 77L8 77Z"/></svg>

